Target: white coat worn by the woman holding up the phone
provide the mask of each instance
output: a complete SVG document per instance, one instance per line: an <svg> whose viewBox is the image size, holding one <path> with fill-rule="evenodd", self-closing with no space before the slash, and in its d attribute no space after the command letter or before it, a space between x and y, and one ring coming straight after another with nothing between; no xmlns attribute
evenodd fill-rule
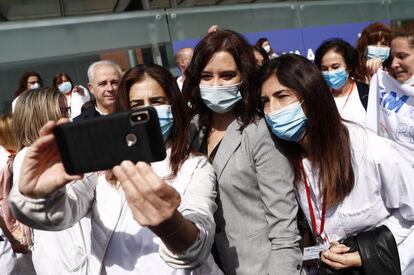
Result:
<svg viewBox="0 0 414 275"><path fill-rule="evenodd" d="M169 152L170 150L168 150L166 160L151 164L157 175L161 177L169 175ZM91 231L84 233L91 236L87 274L110 274L111 265L120 266L125 263L125 258L128 257L131 258L129 262L139 260L141 264L147 261L148 264L153 265L150 261L157 259L156 257L146 257L150 253L159 253L163 261L159 258L158 265L167 263L176 269L171 273L161 274L221 274L210 255L215 231L213 213L217 207L213 167L205 157L191 156L185 161L179 174L170 184L182 197L178 210L191 220L199 230L196 242L179 255L169 251L152 234L153 241L157 245L151 246L151 249L157 247L156 251L149 251L147 247L137 244L137 250L142 251L142 258L132 259L136 255L130 254L118 254L117 258L113 256L117 253L111 253L110 261L106 259L108 249L117 249L116 244L110 244L113 234L125 233L124 235L128 235L128 232L117 230L125 228L125 224L120 223L120 218L128 205L123 199L122 189L110 185L102 173L89 174L83 181L67 185L66 188L58 190L48 199L27 198L18 191L18 188L15 188L11 192L10 202L17 218L32 227L43 230L68 228L82 218L85 213L91 211ZM134 241L134 239L131 240ZM118 248L118 251L124 250ZM206 264L201 265L203 262ZM198 267L199 265L201 266ZM129 274L135 270L131 266L128 268L130 269L123 269L122 274ZM185 269L196 270L193 272ZM145 274L158 275L159 272L152 270L151 273L148 270Z"/></svg>

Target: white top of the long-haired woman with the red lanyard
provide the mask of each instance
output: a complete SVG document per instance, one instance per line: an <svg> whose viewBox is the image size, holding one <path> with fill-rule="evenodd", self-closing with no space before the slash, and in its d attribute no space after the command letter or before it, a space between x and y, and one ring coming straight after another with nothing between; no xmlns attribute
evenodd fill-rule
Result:
<svg viewBox="0 0 414 275"><path fill-rule="evenodd" d="M359 125L346 125L351 138L355 186L342 203L326 209L322 235L333 242L386 225L398 246L402 274L414 274L414 169L404 159L409 152ZM319 173L312 171L309 160L303 160L303 167L319 231ZM297 191L300 206L312 225L303 183Z"/></svg>

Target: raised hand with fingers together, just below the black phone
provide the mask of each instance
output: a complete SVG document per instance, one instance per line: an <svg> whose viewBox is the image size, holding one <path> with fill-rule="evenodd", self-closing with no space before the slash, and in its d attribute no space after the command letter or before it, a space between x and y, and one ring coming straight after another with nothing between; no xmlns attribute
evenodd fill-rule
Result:
<svg viewBox="0 0 414 275"><path fill-rule="evenodd" d="M156 229L176 217L180 194L160 179L151 167L138 162L123 161L113 169L119 180L135 220L142 226Z"/></svg>

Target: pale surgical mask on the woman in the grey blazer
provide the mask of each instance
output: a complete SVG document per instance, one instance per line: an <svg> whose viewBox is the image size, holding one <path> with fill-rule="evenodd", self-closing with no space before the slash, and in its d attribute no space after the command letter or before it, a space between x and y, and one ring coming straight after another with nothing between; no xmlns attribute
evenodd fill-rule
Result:
<svg viewBox="0 0 414 275"><path fill-rule="evenodd" d="M200 96L213 112L227 113L242 99L240 83L229 86L200 85Z"/></svg>

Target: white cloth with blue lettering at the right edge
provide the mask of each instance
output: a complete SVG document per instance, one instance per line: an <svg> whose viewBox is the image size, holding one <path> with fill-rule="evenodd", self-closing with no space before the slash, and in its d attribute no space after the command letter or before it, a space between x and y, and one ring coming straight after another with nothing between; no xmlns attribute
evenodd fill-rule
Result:
<svg viewBox="0 0 414 275"><path fill-rule="evenodd" d="M370 84L367 127L414 151L414 87L378 71Z"/></svg>

